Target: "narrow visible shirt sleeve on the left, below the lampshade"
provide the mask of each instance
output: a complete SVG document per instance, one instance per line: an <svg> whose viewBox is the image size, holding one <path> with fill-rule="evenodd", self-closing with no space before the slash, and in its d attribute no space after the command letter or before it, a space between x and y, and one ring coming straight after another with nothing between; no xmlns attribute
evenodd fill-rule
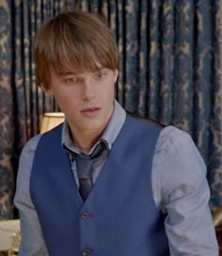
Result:
<svg viewBox="0 0 222 256"><path fill-rule="evenodd" d="M15 206L20 213L22 241L19 256L48 256L38 215L29 194L32 163L40 135L33 137L23 149L14 197Z"/></svg>

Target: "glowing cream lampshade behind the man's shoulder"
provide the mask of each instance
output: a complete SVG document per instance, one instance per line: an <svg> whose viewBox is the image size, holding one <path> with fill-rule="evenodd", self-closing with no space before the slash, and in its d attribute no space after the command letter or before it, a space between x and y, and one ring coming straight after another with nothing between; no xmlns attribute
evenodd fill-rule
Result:
<svg viewBox="0 0 222 256"><path fill-rule="evenodd" d="M45 112L43 114L40 126L40 133L55 128L61 124L65 119L63 112Z"/></svg>

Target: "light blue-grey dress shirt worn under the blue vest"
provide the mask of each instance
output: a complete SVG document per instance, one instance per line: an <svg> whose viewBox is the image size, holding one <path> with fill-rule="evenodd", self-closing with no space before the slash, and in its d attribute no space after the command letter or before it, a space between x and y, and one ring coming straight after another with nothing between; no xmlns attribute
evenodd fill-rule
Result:
<svg viewBox="0 0 222 256"><path fill-rule="evenodd" d="M116 100L114 107L111 120L101 137L109 150L115 143L126 117L125 111ZM69 133L68 124L65 122L61 144L70 152L80 153L71 143ZM24 146L19 164L14 202L21 219L20 256L49 255L42 237L40 221L29 195L32 162L40 136L33 137ZM134 150L134 145L129 146ZM71 170L79 186L72 154L70 157ZM100 162L94 171L93 183L100 175L103 163ZM174 127L163 128L154 151L151 179L156 207L167 213L165 227L170 255L217 256L218 246L208 204L210 190L206 179L206 166L187 133Z"/></svg>

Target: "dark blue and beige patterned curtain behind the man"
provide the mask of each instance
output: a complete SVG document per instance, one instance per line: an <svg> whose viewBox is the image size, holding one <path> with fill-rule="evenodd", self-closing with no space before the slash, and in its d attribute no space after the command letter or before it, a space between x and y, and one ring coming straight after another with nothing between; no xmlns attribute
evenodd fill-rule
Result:
<svg viewBox="0 0 222 256"><path fill-rule="evenodd" d="M40 23L71 9L100 13L119 45L116 97L127 110L190 133L222 205L219 0L0 1L0 219L13 217L21 149L58 111L36 85L31 54Z"/></svg>

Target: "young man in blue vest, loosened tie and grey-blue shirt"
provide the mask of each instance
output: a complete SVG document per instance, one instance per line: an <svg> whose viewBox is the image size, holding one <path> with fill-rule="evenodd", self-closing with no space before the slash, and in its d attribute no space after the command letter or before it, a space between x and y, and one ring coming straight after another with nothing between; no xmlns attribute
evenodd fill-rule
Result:
<svg viewBox="0 0 222 256"><path fill-rule="evenodd" d="M37 31L34 56L66 121L24 146L19 255L218 255L204 162L182 130L119 106L118 49L100 18L56 16Z"/></svg>

